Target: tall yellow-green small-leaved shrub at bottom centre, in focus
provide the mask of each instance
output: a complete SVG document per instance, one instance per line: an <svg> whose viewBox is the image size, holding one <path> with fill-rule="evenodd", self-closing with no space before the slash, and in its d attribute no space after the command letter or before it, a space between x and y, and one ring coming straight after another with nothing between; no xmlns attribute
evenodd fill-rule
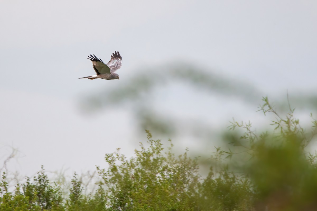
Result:
<svg viewBox="0 0 317 211"><path fill-rule="evenodd" d="M110 210L192 210L197 207L200 176L196 159L183 155L175 157L171 147L166 154L160 140L149 147L140 143L135 157L126 159L120 154L106 154L109 167L100 169L108 187ZM118 164L119 163L119 164Z"/></svg>

